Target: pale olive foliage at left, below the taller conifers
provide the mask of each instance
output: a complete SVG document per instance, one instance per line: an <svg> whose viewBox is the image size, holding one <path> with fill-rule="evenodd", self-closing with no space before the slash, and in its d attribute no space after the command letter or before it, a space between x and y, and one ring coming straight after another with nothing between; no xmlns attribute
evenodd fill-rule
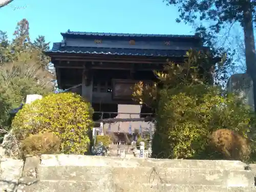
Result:
<svg viewBox="0 0 256 192"><path fill-rule="evenodd" d="M52 90L53 86L47 75L47 72L33 64L33 60L27 64L16 61L0 66L1 126L9 127L9 110L17 108L28 94L46 95Z"/></svg>

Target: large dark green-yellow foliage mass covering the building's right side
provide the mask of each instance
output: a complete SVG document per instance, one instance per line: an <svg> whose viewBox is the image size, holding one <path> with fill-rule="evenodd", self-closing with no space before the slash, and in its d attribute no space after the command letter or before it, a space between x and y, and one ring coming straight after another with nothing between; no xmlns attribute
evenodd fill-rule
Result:
<svg viewBox="0 0 256 192"><path fill-rule="evenodd" d="M225 59L218 65L222 65ZM153 157L220 157L218 143L213 144L210 137L219 129L233 131L237 138L241 138L240 144L247 141L248 136L248 140L254 139L254 114L236 96L223 95L219 87L212 85L214 70L211 67L214 64L214 59L207 54L190 50L183 65L169 62L163 72L155 72L159 82L154 87L145 89L141 86L143 82L134 87L135 99L151 101L149 103L156 106ZM238 142L235 139L230 141L233 145ZM249 145L252 143L254 141ZM217 147L216 151L210 151L210 146ZM234 156L231 154L231 157ZM244 153L239 157L245 160L248 156ZM222 154L222 158L228 156Z"/></svg>

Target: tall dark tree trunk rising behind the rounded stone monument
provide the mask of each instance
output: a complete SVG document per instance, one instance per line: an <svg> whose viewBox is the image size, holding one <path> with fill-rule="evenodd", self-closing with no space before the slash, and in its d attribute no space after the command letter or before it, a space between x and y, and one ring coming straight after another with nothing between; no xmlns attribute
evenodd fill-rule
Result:
<svg viewBox="0 0 256 192"><path fill-rule="evenodd" d="M250 0L244 0L242 27L244 29L246 73L248 73L252 78L254 111L256 112L256 54Z"/></svg>

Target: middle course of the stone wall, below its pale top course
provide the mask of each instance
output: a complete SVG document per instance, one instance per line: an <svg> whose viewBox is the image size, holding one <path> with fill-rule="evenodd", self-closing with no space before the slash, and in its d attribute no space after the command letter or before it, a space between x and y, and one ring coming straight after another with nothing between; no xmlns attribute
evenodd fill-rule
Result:
<svg viewBox="0 0 256 192"><path fill-rule="evenodd" d="M38 173L42 180L254 186L254 175L250 170L39 166Z"/></svg>

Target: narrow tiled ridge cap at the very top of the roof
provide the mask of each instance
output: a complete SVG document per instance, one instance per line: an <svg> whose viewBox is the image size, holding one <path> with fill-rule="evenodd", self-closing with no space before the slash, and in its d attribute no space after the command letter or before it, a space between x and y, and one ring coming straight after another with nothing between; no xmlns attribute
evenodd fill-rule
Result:
<svg viewBox="0 0 256 192"><path fill-rule="evenodd" d="M60 33L62 36L65 35L87 35L87 36L119 36L119 37L167 37L167 38L198 38L196 35L167 35L167 34L136 34L136 33L95 33L95 32L79 32L70 31L66 33Z"/></svg>

